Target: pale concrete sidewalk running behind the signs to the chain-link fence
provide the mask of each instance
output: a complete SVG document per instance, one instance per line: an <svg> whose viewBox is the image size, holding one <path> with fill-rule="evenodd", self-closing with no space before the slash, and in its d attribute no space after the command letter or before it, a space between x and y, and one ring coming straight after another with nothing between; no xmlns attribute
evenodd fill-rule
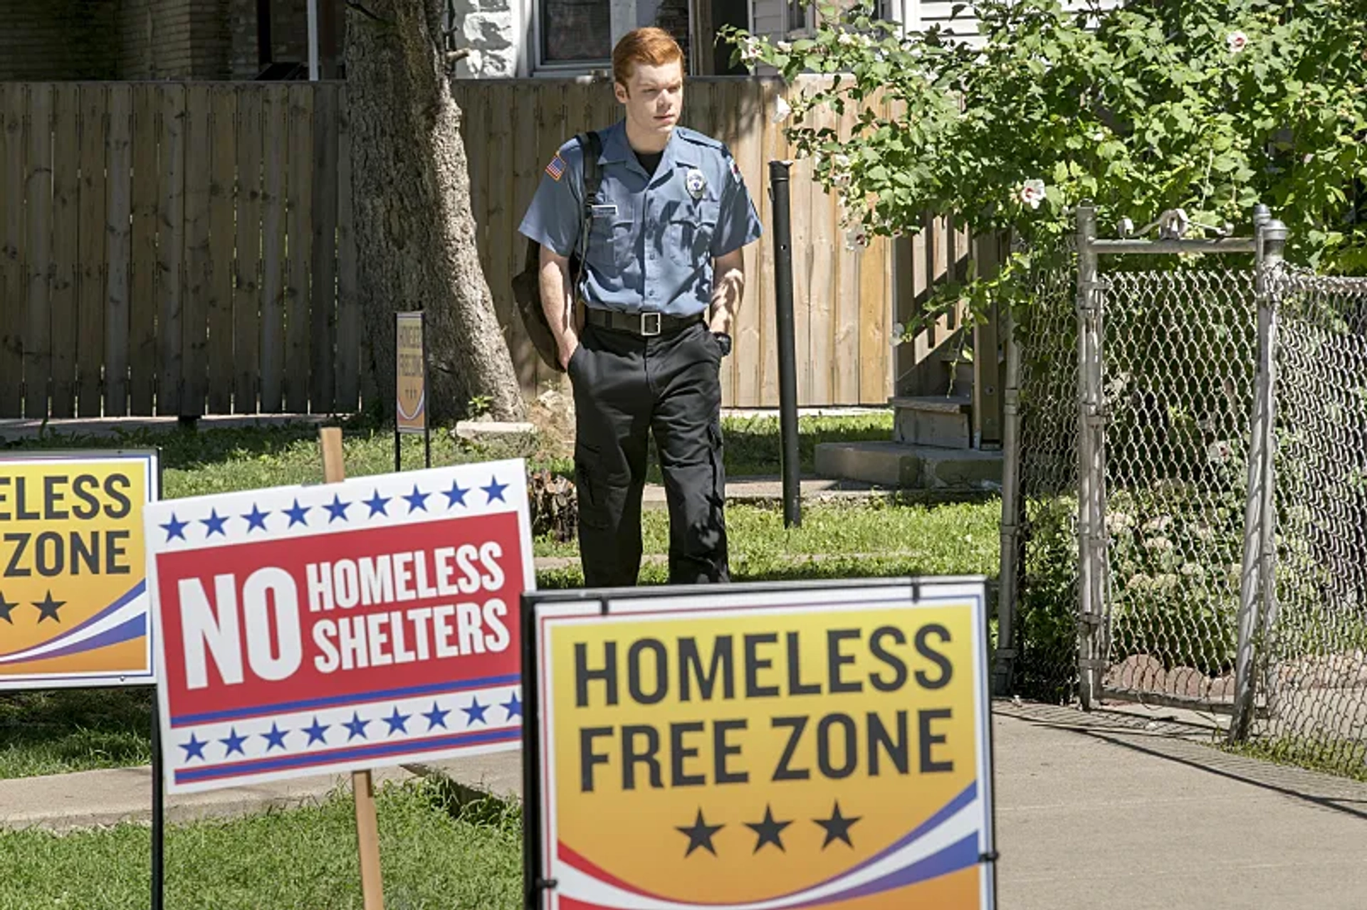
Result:
<svg viewBox="0 0 1367 910"><path fill-rule="evenodd" d="M1228 756L1180 712L994 705L999 906L1003 910L1200 910L1367 906L1367 784ZM514 795L502 754L436 765ZM403 769L380 779L406 777ZM170 799L172 823L290 806L344 777ZM0 782L0 825L148 817L148 769Z"/></svg>

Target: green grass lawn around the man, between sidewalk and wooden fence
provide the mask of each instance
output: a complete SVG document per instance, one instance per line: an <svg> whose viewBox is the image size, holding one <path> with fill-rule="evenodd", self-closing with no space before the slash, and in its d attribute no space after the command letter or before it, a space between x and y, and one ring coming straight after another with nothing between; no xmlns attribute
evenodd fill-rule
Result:
<svg viewBox="0 0 1367 910"><path fill-rule="evenodd" d="M804 417L804 470L817 441L887 439L891 418ZM778 473L776 418L727 418L727 467L733 477ZM394 469L394 437L364 425L344 432L347 474ZM145 447L163 452L164 496L308 484L321 480L317 430L306 426L213 429L204 432L137 432L116 439L27 441L37 447ZM16 448L16 447L11 447ZM421 466L422 447L405 440L405 467ZM507 444L473 447L433 433L433 465L526 456L529 467L569 470L565 441L547 440L534 451ZM731 571L737 581L779 581L890 575L997 575L998 500L940 506L805 504L797 529L783 526L782 510L733 504L727 510ZM668 548L668 515L648 510L642 518L644 549ZM576 557L577 548L554 540L534 541L537 556ZM641 582L663 583L667 567L647 560ZM577 562L537 573L539 588L582 585ZM0 694L0 777L116 768L150 761L150 690L38 690ZM0 905L3 906L3 905Z"/></svg>

